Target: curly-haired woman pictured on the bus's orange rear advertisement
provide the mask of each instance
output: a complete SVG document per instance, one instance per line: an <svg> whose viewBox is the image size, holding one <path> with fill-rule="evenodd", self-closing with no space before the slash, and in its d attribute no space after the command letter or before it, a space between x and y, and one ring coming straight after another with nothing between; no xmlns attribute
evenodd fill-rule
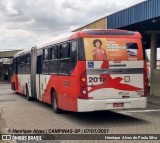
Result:
<svg viewBox="0 0 160 143"><path fill-rule="evenodd" d="M93 60L107 60L107 54L104 48L102 48L102 41L95 39L93 41L94 49L92 50Z"/></svg>

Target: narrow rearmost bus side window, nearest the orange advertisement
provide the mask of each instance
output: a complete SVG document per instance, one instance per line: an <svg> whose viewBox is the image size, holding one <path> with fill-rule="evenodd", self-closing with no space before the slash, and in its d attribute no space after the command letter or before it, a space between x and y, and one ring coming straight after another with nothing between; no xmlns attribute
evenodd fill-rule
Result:
<svg viewBox="0 0 160 143"><path fill-rule="evenodd" d="M76 63L77 63L77 48L78 48L77 41L71 42L71 70L70 70L70 73L73 72L76 66Z"/></svg>

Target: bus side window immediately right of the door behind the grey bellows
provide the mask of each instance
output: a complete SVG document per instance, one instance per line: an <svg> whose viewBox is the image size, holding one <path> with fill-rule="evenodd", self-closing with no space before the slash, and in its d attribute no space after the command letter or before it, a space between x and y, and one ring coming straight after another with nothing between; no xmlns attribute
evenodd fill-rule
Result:
<svg viewBox="0 0 160 143"><path fill-rule="evenodd" d="M49 49L43 49L42 73L49 73Z"/></svg>

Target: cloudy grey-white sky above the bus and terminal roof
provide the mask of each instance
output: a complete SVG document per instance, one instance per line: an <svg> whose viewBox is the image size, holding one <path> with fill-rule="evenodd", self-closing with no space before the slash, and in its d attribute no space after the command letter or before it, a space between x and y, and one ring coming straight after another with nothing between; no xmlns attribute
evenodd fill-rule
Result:
<svg viewBox="0 0 160 143"><path fill-rule="evenodd" d="M145 0L0 0L0 50L27 49Z"/></svg>

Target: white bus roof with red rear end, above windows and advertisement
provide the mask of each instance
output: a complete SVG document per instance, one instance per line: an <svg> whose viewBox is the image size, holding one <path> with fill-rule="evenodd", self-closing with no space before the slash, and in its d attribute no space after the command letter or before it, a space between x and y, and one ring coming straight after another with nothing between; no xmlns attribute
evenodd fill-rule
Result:
<svg viewBox="0 0 160 143"><path fill-rule="evenodd" d="M142 38L139 32L128 31L128 30L119 30L119 29L84 29L82 31L77 32L69 32L65 34L61 34L59 36L53 37L53 39L49 42L44 42L40 45L37 45L37 49L41 49L44 47L48 47L57 43L65 42L67 40L72 40L76 38L103 38L103 37L121 37L121 38ZM23 54L27 54L31 51L30 49L23 50L18 52L14 57L21 56Z"/></svg>

